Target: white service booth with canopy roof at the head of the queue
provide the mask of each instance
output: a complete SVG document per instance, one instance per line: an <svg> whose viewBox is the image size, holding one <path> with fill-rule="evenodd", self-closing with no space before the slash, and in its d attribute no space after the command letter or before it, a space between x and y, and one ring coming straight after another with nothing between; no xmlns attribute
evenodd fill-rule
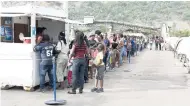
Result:
<svg viewBox="0 0 190 106"><path fill-rule="evenodd" d="M0 10L0 64L1 86L23 86L25 89L39 85L39 63L33 46L36 40L36 28L46 27L54 41L58 34L65 31L65 22L83 24L65 19L63 10L42 6L17 6ZM31 40L25 44L19 34ZM69 36L69 35L66 35Z"/></svg>

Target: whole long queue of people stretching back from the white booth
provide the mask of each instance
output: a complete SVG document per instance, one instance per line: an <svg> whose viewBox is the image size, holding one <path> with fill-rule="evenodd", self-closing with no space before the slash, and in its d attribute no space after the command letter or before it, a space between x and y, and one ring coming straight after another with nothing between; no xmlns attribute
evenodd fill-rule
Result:
<svg viewBox="0 0 190 106"><path fill-rule="evenodd" d="M127 36L122 33L102 34L97 30L89 37L76 30L75 39L69 44L65 33L60 32L56 45L50 42L47 34L34 47L40 52L40 92L45 92L45 75L50 79L49 89L52 88L52 58L56 56L56 76L58 88L71 88L68 94L83 93L84 83L95 77L92 92L104 92L104 73L120 67L130 56L146 48L147 42L143 37ZM68 84L65 83L68 81ZM98 86L98 84L100 84Z"/></svg>

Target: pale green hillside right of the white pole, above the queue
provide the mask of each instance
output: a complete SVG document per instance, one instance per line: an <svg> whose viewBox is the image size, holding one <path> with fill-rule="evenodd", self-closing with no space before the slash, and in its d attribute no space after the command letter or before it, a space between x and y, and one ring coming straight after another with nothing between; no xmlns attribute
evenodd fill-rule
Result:
<svg viewBox="0 0 190 106"><path fill-rule="evenodd" d="M69 18L82 20L84 16L95 16L97 20L108 19L147 25L155 25L172 20L189 21L190 2L69 2Z"/></svg>

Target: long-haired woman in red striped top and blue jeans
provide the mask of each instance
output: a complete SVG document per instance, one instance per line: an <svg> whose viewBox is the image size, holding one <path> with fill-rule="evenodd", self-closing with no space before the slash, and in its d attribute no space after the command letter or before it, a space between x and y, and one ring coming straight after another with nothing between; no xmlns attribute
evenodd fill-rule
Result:
<svg viewBox="0 0 190 106"><path fill-rule="evenodd" d="M75 40L69 54L69 62L72 58L72 90L69 94L76 94L76 89L79 87L79 93L83 93L84 88L84 73L86 67L85 55L88 54L87 44L84 39L84 33L81 31L75 32Z"/></svg>

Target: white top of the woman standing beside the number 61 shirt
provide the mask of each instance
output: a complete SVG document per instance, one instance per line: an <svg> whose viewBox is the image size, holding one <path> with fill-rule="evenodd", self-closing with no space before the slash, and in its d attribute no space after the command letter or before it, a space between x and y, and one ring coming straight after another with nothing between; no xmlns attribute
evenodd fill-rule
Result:
<svg viewBox="0 0 190 106"><path fill-rule="evenodd" d="M61 53L67 54L69 51L69 46L65 45L63 40L57 42L57 46L56 46L57 50L60 50Z"/></svg>

